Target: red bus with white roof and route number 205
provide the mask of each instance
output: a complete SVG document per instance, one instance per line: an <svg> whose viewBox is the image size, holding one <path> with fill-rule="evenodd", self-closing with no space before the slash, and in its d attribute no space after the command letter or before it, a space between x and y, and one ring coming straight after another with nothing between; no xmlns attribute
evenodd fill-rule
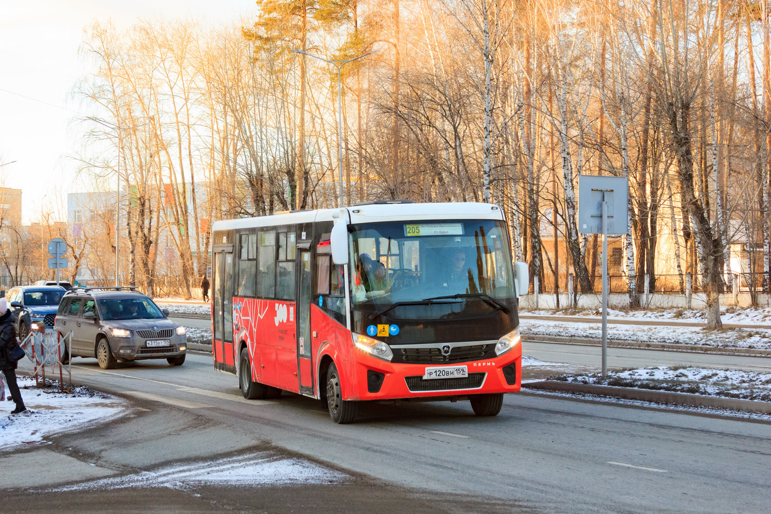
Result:
<svg viewBox="0 0 771 514"><path fill-rule="evenodd" d="M527 264L499 207L380 201L212 228L214 368L244 398L291 391L348 423L374 400L497 415L520 390Z"/></svg>

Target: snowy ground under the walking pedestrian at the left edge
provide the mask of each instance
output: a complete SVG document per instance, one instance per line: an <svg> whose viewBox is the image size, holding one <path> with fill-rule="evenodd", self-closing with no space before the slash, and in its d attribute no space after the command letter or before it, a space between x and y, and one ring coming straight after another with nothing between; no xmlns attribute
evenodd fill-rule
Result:
<svg viewBox="0 0 771 514"><path fill-rule="evenodd" d="M15 404L0 402L0 452L22 443L40 442L49 435L109 421L123 415L128 408L122 399L86 386L74 387L74 394L70 394L59 392L58 381L49 381L45 388L32 388L35 379L31 377L20 376L18 382L27 411L9 415ZM8 396L7 388L5 394Z"/></svg>

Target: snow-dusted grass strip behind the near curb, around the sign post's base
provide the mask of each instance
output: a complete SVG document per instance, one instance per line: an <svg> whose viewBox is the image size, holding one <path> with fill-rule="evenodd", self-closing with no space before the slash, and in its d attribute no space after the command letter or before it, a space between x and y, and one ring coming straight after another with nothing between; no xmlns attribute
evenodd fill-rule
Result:
<svg viewBox="0 0 771 514"><path fill-rule="evenodd" d="M590 375L557 375L551 380L771 401L771 375L749 371L655 366L608 372L606 378L602 378L599 373L592 373Z"/></svg>

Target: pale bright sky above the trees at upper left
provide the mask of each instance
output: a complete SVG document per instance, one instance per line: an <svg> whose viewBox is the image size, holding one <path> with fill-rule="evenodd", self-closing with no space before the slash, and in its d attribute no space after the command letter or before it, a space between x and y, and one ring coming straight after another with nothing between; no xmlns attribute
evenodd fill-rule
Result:
<svg viewBox="0 0 771 514"><path fill-rule="evenodd" d="M75 180L82 126L70 98L89 69L79 57L83 28L112 19L194 18L227 25L254 15L254 0L2 0L0 2L0 186L22 190L24 223L41 209L63 209ZM114 186L113 186L114 189Z"/></svg>

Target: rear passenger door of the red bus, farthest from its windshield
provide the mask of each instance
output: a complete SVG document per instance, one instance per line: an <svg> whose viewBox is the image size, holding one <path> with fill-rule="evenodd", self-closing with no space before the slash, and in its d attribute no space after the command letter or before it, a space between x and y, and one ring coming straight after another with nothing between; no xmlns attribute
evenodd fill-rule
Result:
<svg viewBox="0 0 771 514"><path fill-rule="evenodd" d="M233 248L214 253L214 368L235 372L233 353Z"/></svg>

